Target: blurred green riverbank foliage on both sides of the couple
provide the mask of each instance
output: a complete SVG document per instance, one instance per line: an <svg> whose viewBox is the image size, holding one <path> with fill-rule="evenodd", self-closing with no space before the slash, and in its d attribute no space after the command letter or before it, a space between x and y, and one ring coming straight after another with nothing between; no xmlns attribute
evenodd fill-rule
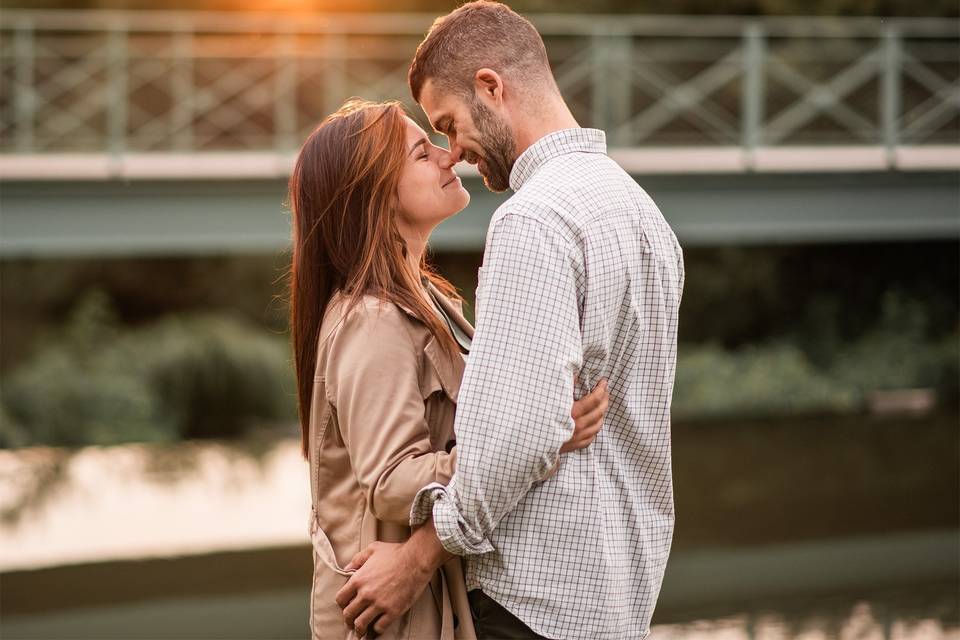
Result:
<svg viewBox="0 0 960 640"><path fill-rule="evenodd" d="M836 329L841 308L823 300L807 316L816 331L681 345L674 415L847 414L872 391L912 387L956 404L960 334L931 330L925 301L891 290L872 328L850 340ZM229 437L292 424L295 408L284 338L222 312L123 328L95 291L4 378L0 447Z"/></svg>

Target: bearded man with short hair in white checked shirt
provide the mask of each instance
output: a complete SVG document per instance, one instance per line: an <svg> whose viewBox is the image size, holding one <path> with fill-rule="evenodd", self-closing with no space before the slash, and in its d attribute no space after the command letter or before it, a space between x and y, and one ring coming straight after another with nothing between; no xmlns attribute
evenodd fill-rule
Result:
<svg viewBox="0 0 960 640"><path fill-rule="evenodd" d="M354 558L337 602L359 634L382 632L457 554L481 638L643 638L673 535L680 246L506 5L438 19L409 81L454 161L515 194L487 234L456 475L417 495L410 540ZM552 472L574 392L602 378L604 430Z"/></svg>

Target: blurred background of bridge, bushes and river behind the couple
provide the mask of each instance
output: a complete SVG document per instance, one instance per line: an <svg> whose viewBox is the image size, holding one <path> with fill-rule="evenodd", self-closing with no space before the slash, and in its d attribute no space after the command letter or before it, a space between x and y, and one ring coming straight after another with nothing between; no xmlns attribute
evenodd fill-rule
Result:
<svg viewBox="0 0 960 640"><path fill-rule="evenodd" d="M349 96L426 124L455 6L3 2L2 637L307 634L286 179ZM512 6L685 250L653 637L960 638L955 0Z"/></svg>

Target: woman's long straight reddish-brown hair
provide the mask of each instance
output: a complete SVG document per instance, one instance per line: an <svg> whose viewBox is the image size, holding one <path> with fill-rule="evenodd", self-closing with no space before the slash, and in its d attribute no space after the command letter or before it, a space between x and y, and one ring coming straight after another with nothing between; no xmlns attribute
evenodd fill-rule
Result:
<svg viewBox="0 0 960 640"><path fill-rule="evenodd" d="M304 457L320 324L337 291L347 296L344 315L365 294L376 296L412 310L457 353L418 293L423 276L445 295L457 297L456 290L430 268L426 255L420 273L414 272L398 230L397 186L406 155L400 103L351 99L310 134L290 176L290 331Z"/></svg>

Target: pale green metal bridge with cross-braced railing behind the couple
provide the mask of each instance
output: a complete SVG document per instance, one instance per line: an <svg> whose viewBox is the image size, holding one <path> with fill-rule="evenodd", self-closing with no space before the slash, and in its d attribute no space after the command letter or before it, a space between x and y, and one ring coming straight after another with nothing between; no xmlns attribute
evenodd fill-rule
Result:
<svg viewBox="0 0 960 640"><path fill-rule="evenodd" d="M434 16L5 10L0 258L277 251L299 143L410 103ZM577 120L682 242L960 237L951 19L531 15ZM482 247L504 196L434 235Z"/></svg>

